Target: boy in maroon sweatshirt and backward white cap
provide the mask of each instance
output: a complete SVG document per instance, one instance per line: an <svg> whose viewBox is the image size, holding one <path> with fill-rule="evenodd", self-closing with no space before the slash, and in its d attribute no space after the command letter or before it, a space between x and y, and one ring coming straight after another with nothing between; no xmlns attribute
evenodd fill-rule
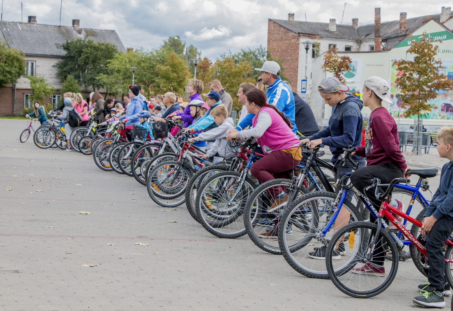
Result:
<svg viewBox="0 0 453 311"><path fill-rule="evenodd" d="M391 103L387 97L389 91L390 86L381 77L370 77L364 83L363 105L370 108L371 115L365 131L365 147L357 146L355 155L366 158L366 167L359 168L351 174L352 185L368 198L376 211L379 211L381 201L376 199L375 189L365 191L365 188L373 183L373 178L379 178L381 183L390 183L394 178L409 177L406 172L411 169L400 150L395 120L381 105L382 100ZM382 188L381 191L386 189ZM365 202L365 198L361 197L361 199ZM391 205L400 211L404 209L403 203L398 200L392 199ZM399 216L396 218L401 220ZM375 221L371 215L370 220ZM395 226L390 224L389 229L395 229ZM352 270L358 274L384 275L383 262L384 256L373 256L369 264Z"/></svg>

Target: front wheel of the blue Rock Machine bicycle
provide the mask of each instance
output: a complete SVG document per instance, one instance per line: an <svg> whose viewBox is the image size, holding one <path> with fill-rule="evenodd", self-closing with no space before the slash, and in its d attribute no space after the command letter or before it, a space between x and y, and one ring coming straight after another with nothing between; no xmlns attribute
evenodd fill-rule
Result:
<svg viewBox="0 0 453 311"><path fill-rule="evenodd" d="M310 192L295 200L281 217L278 240L283 257L294 270L309 278L328 278L324 259L333 234L349 222L362 220L356 207L345 202L340 210L342 217L337 217L323 233L337 211L336 197L333 192ZM349 215L343 214L345 210ZM292 235L282 230L289 226Z"/></svg>

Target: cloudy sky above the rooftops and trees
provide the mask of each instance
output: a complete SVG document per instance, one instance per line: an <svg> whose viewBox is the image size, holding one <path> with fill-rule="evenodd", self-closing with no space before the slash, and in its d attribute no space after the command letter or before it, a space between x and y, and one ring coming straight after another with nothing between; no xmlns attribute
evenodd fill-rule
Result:
<svg viewBox="0 0 453 311"><path fill-rule="evenodd" d="M266 46L267 20L288 19L343 24L357 17L359 25L374 23L374 8L381 20L439 14L448 2L439 0L63 0L61 24L80 19L82 28L114 29L125 47L152 49L169 36L180 35L215 59L220 53ZM39 24L59 24L60 0L24 0L23 20L36 15ZM451 5L451 3L450 3ZM4 0L3 20L21 21L21 1Z"/></svg>

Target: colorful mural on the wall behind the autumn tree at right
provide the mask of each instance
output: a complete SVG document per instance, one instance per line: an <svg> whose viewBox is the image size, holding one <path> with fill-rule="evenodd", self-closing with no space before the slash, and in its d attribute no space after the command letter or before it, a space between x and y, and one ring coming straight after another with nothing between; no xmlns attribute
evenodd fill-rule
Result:
<svg viewBox="0 0 453 311"><path fill-rule="evenodd" d="M448 79L453 79L453 60L443 60L443 74L448 76ZM390 78L390 99L392 103L389 105L389 111L394 118L404 118L405 109L401 108L400 90L396 86L395 80L403 72L398 70L398 63L391 64ZM438 96L434 100L430 100L429 104L434 105L432 110L424 110L420 115L421 119L438 119L438 120L453 120L453 91L439 91ZM416 119L417 116L410 117Z"/></svg>

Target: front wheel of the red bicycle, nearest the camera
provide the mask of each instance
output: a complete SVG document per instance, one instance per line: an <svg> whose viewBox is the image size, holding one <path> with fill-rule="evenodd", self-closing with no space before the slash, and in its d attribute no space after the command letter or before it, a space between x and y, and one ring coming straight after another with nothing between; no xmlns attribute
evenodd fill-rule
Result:
<svg viewBox="0 0 453 311"><path fill-rule="evenodd" d="M369 298L379 295L396 276L398 249L395 241L381 228L374 248L376 230L377 223L353 222L339 229L327 248L326 267L329 277L340 291L351 297ZM336 260L336 248L340 244L345 246L344 255ZM371 260L369 255L372 255ZM386 259L388 256L391 257L390 260Z"/></svg>

